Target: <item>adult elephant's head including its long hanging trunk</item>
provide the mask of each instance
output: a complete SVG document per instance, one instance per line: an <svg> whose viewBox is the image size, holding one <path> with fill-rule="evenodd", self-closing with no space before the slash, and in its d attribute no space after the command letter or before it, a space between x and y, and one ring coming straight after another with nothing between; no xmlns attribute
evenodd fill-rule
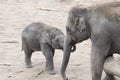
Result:
<svg viewBox="0 0 120 80"><path fill-rule="evenodd" d="M89 38L90 30L87 26L87 20L89 18L87 15L86 8L72 8L69 11L64 42L64 56L61 67L61 75L64 80L68 80L65 71L69 62L72 46Z"/></svg>

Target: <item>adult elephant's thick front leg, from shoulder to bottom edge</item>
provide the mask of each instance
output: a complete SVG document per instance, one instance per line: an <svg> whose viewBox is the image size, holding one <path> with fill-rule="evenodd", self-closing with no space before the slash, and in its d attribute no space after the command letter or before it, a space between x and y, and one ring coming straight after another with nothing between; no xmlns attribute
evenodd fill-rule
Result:
<svg viewBox="0 0 120 80"><path fill-rule="evenodd" d="M92 80L101 80L103 65L111 48L109 36L99 33L92 38L91 72Z"/></svg>

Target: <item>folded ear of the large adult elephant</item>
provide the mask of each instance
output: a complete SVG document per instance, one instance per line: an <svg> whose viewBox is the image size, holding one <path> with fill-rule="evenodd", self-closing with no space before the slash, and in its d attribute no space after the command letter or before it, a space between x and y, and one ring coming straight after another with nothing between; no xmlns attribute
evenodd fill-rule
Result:
<svg viewBox="0 0 120 80"><path fill-rule="evenodd" d="M75 20L75 25L79 32L83 32L86 29L85 19L83 16L77 17Z"/></svg>

